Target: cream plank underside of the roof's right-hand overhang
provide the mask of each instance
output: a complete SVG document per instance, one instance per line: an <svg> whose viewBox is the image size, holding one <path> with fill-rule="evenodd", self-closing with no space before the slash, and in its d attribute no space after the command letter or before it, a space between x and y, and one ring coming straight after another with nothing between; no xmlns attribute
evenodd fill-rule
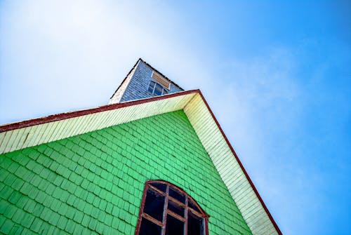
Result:
<svg viewBox="0 0 351 235"><path fill-rule="evenodd" d="M273 231L265 229L267 223L273 227L270 218L253 192L230 147L225 143L200 95L196 95L184 110L253 234L278 234L275 229ZM252 216L255 213L257 217Z"/></svg>

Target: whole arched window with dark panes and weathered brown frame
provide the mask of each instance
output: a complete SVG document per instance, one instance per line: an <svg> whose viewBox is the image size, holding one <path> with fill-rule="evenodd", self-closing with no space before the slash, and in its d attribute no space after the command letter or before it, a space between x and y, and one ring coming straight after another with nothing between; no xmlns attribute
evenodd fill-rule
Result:
<svg viewBox="0 0 351 235"><path fill-rule="evenodd" d="M183 189L147 180L135 235L208 235L208 217Z"/></svg>

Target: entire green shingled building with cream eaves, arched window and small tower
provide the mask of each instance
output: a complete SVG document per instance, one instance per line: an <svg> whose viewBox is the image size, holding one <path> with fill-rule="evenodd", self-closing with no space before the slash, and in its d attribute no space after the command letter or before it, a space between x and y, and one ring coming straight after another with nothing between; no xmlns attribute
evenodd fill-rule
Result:
<svg viewBox="0 0 351 235"><path fill-rule="evenodd" d="M138 60L110 105L0 126L1 234L282 234L200 90Z"/></svg>

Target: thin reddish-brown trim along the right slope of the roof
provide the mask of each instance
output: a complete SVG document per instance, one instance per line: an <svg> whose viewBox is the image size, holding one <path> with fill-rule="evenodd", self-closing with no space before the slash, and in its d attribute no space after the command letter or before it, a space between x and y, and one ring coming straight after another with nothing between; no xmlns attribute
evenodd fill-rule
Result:
<svg viewBox="0 0 351 235"><path fill-rule="evenodd" d="M232 153L234 154L235 159L237 159L237 162L239 163L239 166L240 166L241 170L243 170L243 172L244 172L244 174L245 174L245 176L246 176L246 179L249 180L249 183L250 183L250 185L251 185L251 187L252 187L252 189L253 189L253 192L255 192L256 196L258 197L258 200L259 200L260 203L262 204L263 209L265 209L265 212L267 213L268 217L270 218L270 221L272 222L274 228L277 230L277 233L278 233L279 235L282 235L282 231L280 231L280 229L279 229L277 223L274 221L272 215L270 214L270 211L268 210L267 206L265 206L265 203L263 202L263 200L262 200L260 194L258 194L258 191L257 191L255 185L253 185L253 182L252 182L251 178L249 177L248 173L246 172L244 166L242 165L242 163L241 163L239 157L237 156L237 153L234 151L232 145L230 145L230 142L229 142L229 140L227 139L227 136L225 136L225 133L223 132L222 128L220 127L220 124L218 123L216 117L213 115L213 112L212 112L211 108L208 106L208 103L206 102L206 100L205 100L205 98L204 98L204 95L202 95L202 93L201 93L201 90L199 90L199 94L201 95L202 100L204 100L204 103L205 103L206 107L207 107L208 110L210 111L213 120L216 122L216 124L217 124L217 126L218 126L218 128L219 128L219 130L220 130L220 133L222 133L223 137L225 138L225 141L227 142L227 145L230 147L230 150L231 150Z"/></svg>

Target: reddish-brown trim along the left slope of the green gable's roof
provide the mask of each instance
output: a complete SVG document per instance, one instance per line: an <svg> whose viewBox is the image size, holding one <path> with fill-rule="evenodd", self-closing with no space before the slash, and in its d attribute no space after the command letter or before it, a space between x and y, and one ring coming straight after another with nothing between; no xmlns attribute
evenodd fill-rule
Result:
<svg viewBox="0 0 351 235"><path fill-rule="evenodd" d="M35 126L35 125L39 125L39 124L43 124L43 123L49 123L52 121L60 121L63 119L70 119L70 118L77 117L77 116L94 114L94 113L98 113L98 112L104 112L104 111L108 111L108 110L112 110L112 109L119 109L121 107L128 107L128 106L132 106L132 105L140 105L143 103L152 102L152 101L156 101L156 100L164 100L167 98L172 98L172 97L176 97L176 96L180 96L180 95L188 95L188 94L199 93L199 92L200 92L200 90L198 90L198 89L197 90L185 90L185 91L180 91L177 93L170 93L167 95L154 96L152 98L131 100L131 101L120 102L120 103L116 103L116 104L112 104L112 105L103 105L103 106L95 107L92 109L82 109L82 110L78 110L78 111L74 111L74 112L65 112L65 113L61 113L61 114L53 114L53 115L49 115L49 116L43 116L43 117L39 117L37 119L29 119L29 120L25 120L25 121L18 121L15 123L8 123L8 124L4 124L4 125L0 126L0 133L8 131L8 130L15 130L15 129L19 129L19 128L25 128L28 126Z"/></svg>

